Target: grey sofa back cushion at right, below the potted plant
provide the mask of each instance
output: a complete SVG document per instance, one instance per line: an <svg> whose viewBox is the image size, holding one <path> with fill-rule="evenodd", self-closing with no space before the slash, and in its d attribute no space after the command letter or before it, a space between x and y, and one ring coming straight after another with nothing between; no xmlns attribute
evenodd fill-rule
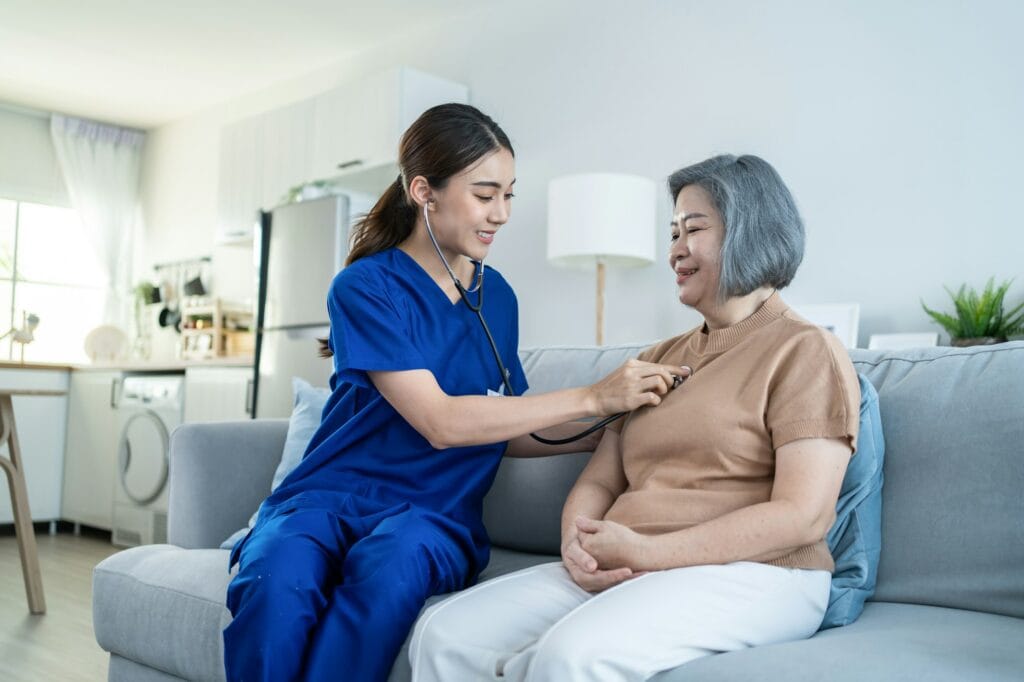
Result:
<svg viewBox="0 0 1024 682"><path fill-rule="evenodd" d="M1024 342L850 353L886 438L874 600L1024 616Z"/></svg>

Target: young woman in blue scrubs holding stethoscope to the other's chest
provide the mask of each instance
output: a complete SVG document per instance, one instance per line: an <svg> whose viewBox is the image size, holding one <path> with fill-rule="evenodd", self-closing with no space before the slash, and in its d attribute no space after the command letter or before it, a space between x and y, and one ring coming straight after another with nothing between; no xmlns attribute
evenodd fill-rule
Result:
<svg viewBox="0 0 1024 682"><path fill-rule="evenodd" d="M468 290L508 220L515 164L505 132L466 104L424 113L401 173L356 226L328 294L332 393L302 462L231 553L228 680L386 679L427 597L471 585L489 553L483 496L499 461L545 446L571 420L660 402L685 370L631 360L593 386L526 397L503 382ZM517 394L515 295L484 266L484 313ZM471 293L474 302L480 292Z"/></svg>

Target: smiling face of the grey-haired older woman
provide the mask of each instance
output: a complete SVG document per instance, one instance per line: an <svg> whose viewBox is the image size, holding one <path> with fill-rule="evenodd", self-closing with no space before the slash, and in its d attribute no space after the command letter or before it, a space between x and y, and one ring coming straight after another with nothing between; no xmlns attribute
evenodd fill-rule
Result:
<svg viewBox="0 0 1024 682"><path fill-rule="evenodd" d="M725 225L711 196L695 184L676 198L669 265L676 272L679 300L705 313L715 307Z"/></svg>

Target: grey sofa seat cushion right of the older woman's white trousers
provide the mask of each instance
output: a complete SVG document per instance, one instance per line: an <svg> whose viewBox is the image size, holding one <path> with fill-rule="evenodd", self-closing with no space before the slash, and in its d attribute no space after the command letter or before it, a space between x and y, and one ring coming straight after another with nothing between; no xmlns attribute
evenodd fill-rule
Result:
<svg viewBox="0 0 1024 682"><path fill-rule="evenodd" d="M1021 679L1024 619L868 602L860 619L811 639L698 658L653 682L998 682Z"/></svg>

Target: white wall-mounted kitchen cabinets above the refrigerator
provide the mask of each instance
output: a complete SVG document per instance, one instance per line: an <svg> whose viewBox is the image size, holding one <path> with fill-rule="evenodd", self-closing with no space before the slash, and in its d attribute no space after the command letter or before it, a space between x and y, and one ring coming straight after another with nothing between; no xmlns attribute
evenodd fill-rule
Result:
<svg viewBox="0 0 1024 682"><path fill-rule="evenodd" d="M435 104L468 97L464 85L396 68L225 126L217 243L251 240L257 212L305 182L337 178L339 187L378 196L394 181L406 128Z"/></svg>

